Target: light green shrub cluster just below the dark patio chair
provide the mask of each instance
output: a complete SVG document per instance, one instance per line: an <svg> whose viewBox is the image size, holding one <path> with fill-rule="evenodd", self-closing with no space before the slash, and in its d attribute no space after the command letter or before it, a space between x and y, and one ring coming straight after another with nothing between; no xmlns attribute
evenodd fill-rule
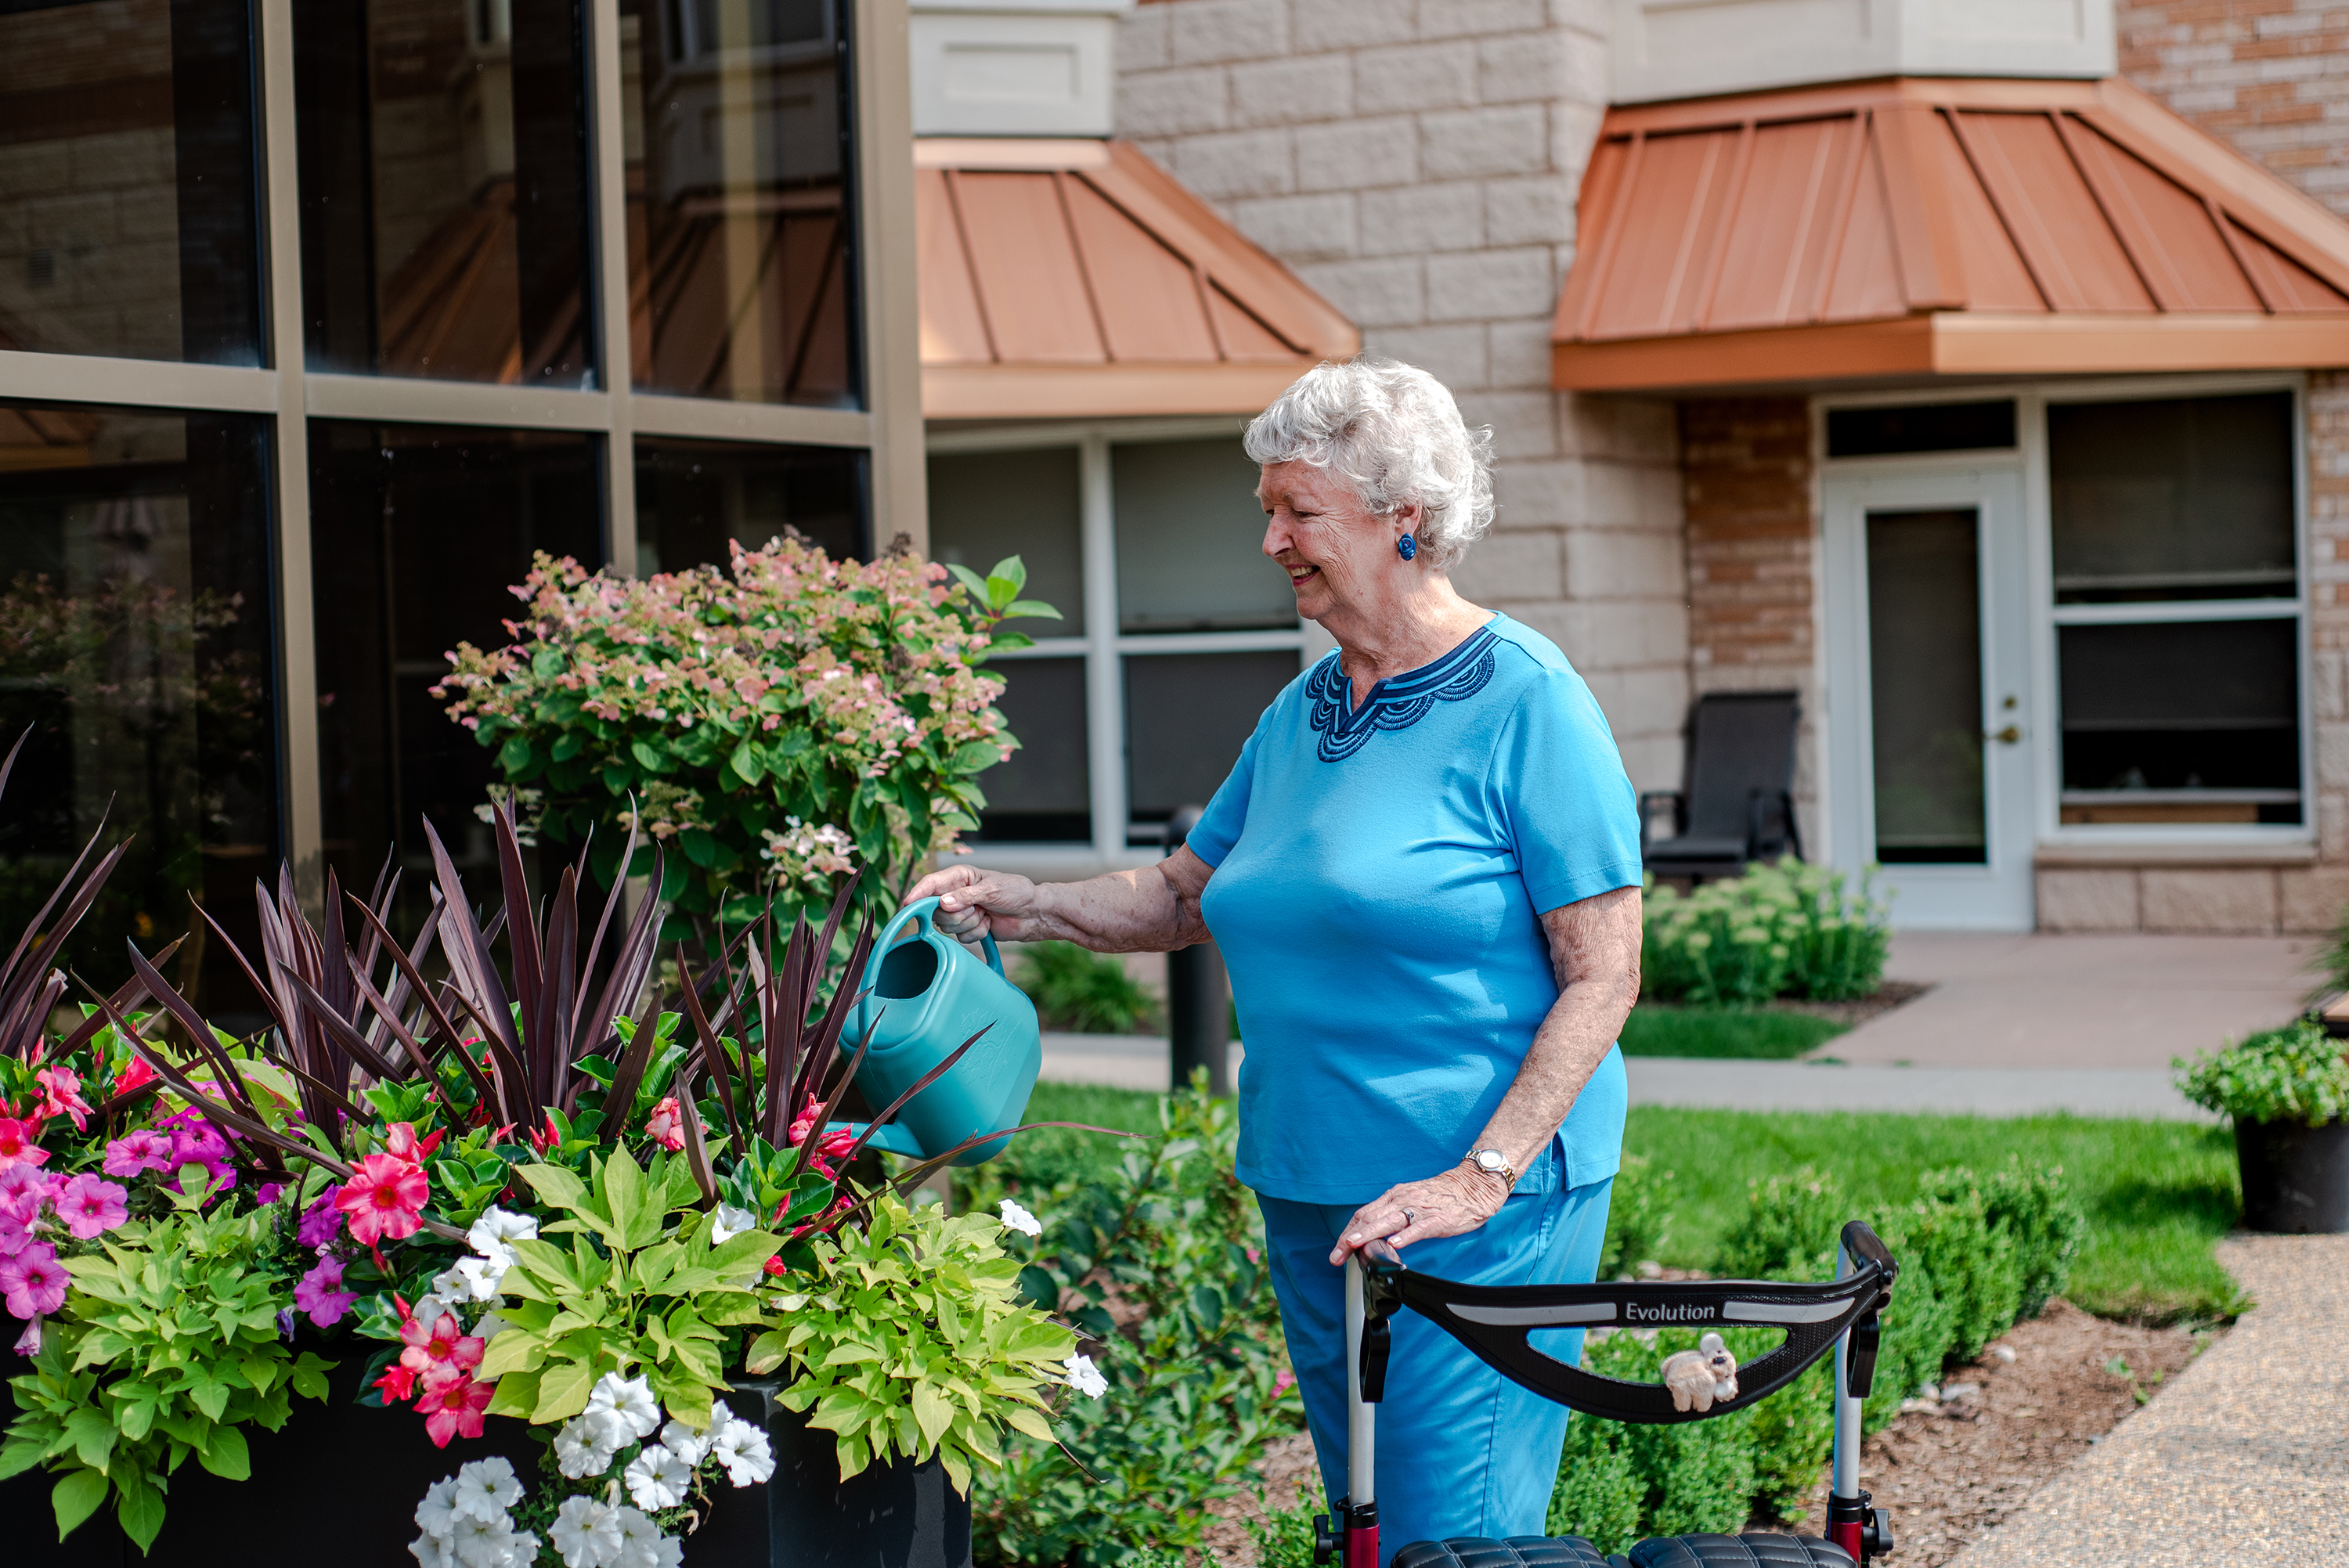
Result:
<svg viewBox="0 0 2349 1568"><path fill-rule="evenodd" d="M1889 951L1872 873L1846 892L1842 871L1790 854L1689 894L1651 883L1640 969L1647 995L1661 1000L1849 1000L1884 984Z"/></svg>

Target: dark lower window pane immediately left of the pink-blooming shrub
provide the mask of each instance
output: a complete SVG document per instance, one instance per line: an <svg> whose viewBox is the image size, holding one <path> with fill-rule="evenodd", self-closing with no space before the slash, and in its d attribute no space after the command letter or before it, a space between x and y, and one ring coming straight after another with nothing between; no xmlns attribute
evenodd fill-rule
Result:
<svg viewBox="0 0 2349 1568"><path fill-rule="evenodd" d="M503 648L531 554L604 559L597 437L310 425L327 864L369 887L388 850L430 873L423 822L489 869L493 758L430 688L460 641Z"/></svg>

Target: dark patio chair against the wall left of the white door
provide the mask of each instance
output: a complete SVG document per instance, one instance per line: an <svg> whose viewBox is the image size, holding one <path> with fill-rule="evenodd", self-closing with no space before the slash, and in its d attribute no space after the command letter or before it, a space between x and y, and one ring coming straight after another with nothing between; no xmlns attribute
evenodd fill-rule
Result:
<svg viewBox="0 0 2349 1568"><path fill-rule="evenodd" d="M1640 857L1656 876L1736 876L1748 861L1802 859L1795 826L1795 692L1705 692L1689 709L1684 789L1640 796ZM1672 836L1651 838L1670 803Z"/></svg>

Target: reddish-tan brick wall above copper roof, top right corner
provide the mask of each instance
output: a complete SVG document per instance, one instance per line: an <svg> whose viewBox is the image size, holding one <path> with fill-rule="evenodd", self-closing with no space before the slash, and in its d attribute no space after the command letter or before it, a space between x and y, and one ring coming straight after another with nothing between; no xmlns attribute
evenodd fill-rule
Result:
<svg viewBox="0 0 2349 1568"><path fill-rule="evenodd" d="M2349 216L2342 0L2119 0L2121 75Z"/></svg>

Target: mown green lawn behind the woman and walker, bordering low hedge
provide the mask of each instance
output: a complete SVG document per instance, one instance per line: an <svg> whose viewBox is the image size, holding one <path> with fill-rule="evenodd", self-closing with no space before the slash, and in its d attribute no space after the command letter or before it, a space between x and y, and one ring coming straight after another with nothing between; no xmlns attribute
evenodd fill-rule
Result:
<svg viewBox="0 0 2349 1568"><path fill-rule="evenodd" d="M1799 1014L1795 1014L1799 1016ZM1036 1084L1031 1122L1158 1127L1158 1096L1130 1089ZM1118 1138L1031 1131L1003 1155L1029 1181L1057 1181L1090 1160L1116 1160ZM2084 1117L1931 1117L1668 1110L1630 1113L1623 1145L1672 1171L1672 1225L1663 1263L1708 1268L1745 1214L1745 1183L1811 1164L1856 1207L1914 1195L1917 1176L1947 1164L1994 1167L2008 1155L2058 1164L2088 1211L2088 1242L2072 1272L2079 1305L2147 1319L2210 1319L2241 1310L2234 1279L2210 1253L2239 1211L2234 1141L2192 1122Z"/></svg>

